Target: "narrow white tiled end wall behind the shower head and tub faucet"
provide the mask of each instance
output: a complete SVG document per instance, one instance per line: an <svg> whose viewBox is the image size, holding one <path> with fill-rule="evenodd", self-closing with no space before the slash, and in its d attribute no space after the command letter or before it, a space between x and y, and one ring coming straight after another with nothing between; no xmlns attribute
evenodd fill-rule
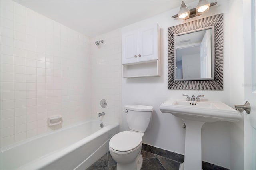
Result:
<svg viewBox="0 0 256 170"><path fill-rule="evenodd" d="M96 41L104 40L99 46ZM92 118L122 127L121 97L121 30L114 30L92 38ZM100 106L101 99L107 107ZM98 117L99 112L105 116Z"/></svg>

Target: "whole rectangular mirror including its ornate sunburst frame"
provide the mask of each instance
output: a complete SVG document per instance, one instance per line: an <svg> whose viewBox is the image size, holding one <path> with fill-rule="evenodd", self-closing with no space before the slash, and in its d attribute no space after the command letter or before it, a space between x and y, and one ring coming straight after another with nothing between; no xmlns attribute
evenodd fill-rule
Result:
<svg viewBox="0 0 256 170"><path fill-rule="evenodd" d="M223 90L223 14L169 27L168 89Z"/></svg>

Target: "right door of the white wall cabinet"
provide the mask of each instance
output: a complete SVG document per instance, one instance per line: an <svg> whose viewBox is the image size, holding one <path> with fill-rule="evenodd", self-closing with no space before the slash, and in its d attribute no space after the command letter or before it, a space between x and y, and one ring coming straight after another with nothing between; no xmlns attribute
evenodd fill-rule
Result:
<svg viewBox="0 0 256 170"><path fill-rule="evenodd" d="M138 61L158 59L158 25L138 29Z"/></svg>

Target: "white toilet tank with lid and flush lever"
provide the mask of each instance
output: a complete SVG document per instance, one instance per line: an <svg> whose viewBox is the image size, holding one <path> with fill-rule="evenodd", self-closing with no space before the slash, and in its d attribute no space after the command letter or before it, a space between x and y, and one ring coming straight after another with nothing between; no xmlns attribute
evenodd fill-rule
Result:
<svg viewBox="0 0 256 170"><path fill-rule="evenodd" d="M126 121L130 130L145 132L151 119L153 106L126 105Z"/></svg>

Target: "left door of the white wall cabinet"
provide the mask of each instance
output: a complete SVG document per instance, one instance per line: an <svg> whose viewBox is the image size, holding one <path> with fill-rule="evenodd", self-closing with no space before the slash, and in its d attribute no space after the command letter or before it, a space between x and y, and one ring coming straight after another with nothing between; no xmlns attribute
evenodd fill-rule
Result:
<svg viewBox="0 0 256 170"><path fill-rule="evenodd" d="M138 30L122 34L122 64L138 62Z"/></svg>

